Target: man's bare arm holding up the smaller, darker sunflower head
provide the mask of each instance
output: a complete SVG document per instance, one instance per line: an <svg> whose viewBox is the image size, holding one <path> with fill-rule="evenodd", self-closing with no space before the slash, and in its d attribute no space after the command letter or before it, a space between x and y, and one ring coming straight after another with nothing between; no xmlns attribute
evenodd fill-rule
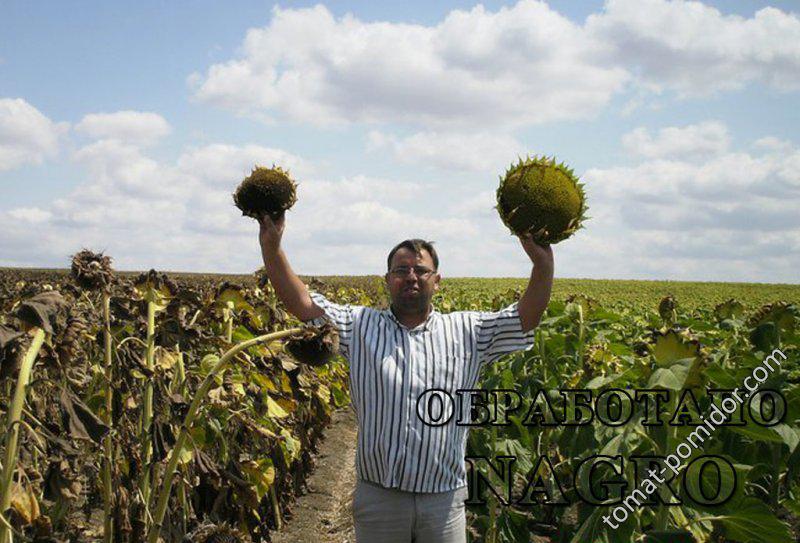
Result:
<svg viewBox="0 0 800 543"><path fill-rule="evenodd" d="M325 312L311 299L308 289L289 265L281 248L286 216L273 221L268 215L259 219L258 241L267 277L287 311L302 321L321 317Z"/></svg>

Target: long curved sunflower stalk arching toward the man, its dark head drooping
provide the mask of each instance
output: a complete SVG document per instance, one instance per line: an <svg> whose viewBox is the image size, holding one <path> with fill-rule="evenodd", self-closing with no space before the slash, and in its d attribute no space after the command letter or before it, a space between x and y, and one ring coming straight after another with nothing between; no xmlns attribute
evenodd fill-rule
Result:
<svg viewBox="0 0 800 543"><path fill-rule="evenodd" d="M164 514L167 511L167 504L169 503L169 496L170 492L172 491L172 481L178 468L178 462L180 461L181 454L183 453L183 449L186 446L186 442L189 438L189 431L194 424L197 414L200 412L200 407L205 402L206 397L208 396L208 391L211 390L211 387L215 384L215 377L227 369L228 364L233 361L236 354L240 351L259 343L277 341L279 339L292 336L301 332L302 330L302 328L290 328L289 330L273 332L271 334L265 334L247 341L243 341L228 349L228 351L222 355L217 363L214 364L214 367L212 367L208 372L208 375L206 375L205 379L200 385L200 388L198 388L194 398L192 398L192 403L189 405L189 411L186 413L186 417L181 425L181 431L178 434L178 439L175 441L175 446L172 448L172 451L170 451L169 461L167 462L167 468L164 471L164 477L161 483L161 490L158 493L158 501L155 507L153 522L148 529L147 543L158 542L161 532L161 524L164 521Z"/></svg>

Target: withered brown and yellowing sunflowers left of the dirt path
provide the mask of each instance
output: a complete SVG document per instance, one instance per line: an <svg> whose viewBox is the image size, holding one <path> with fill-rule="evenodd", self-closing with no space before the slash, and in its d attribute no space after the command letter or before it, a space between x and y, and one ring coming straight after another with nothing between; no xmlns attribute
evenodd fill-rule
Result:
<svg viewBox="0 0 800 543"><path fill-rule="evenodd" d="M0 540L268 541L349 402L346 366L287 354L299 323L261 275L78 256L0 274Z"/></svg>

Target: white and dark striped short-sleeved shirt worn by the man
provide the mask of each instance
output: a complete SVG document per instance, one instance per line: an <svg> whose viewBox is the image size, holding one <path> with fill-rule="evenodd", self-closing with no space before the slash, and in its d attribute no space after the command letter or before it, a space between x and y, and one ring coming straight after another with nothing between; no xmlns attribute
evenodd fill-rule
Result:
<svg viewBox="0 0 800 543"><path fill-rule="evenodd" d="M311 298L325 315L310 323L333 321L340 353L349 362L358 478L410 492L466 486L469 426L456 420L460 414L461 421L469 421L470 406L465 396L462 412L453 413L456 391L475 388L483 364L533 345L533 330L522 331L517 304L496 312L434 309L409 329L389 309L335 304L314 292ZM453 398L438 409L456 415L444 425L426 425L417 413L418 398L430 389Z"/></svg>

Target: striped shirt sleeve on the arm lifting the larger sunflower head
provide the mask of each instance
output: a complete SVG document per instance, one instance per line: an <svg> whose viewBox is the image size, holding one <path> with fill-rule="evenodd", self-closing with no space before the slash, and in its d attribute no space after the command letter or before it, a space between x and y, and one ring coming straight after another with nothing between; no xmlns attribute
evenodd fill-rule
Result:
<svg viewBox="0 0 800 543"><path fill-rule="evenodd" d="M516 302L500 311L478 313L478 364L490 364L504 355L533 346L534 330L522 331Z"/></svg>

